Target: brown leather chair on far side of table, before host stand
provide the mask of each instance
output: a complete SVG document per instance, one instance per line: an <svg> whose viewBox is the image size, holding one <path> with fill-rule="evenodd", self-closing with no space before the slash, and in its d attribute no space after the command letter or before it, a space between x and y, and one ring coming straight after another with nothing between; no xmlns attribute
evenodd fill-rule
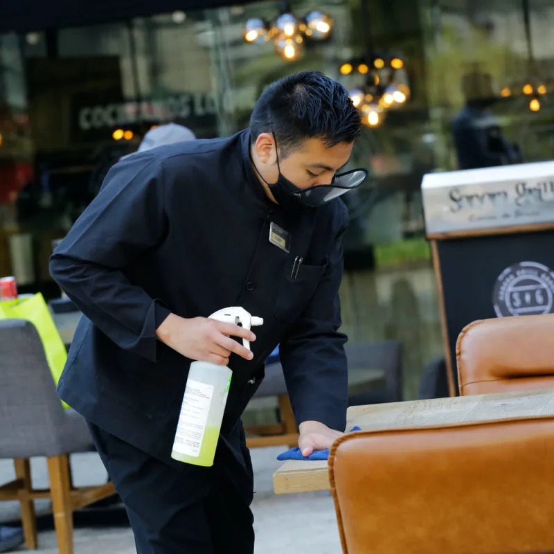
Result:
<svg viewBox="0 0 554 554"><path fill-rule="evenodd" d="M461 396L554 388L554 314L474 321L456 359Z"/></svg>

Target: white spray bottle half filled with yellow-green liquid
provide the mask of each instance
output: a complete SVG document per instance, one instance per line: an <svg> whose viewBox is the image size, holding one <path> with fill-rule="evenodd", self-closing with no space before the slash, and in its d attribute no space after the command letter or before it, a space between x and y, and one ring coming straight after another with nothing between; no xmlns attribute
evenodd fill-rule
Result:
<svg viewBox="0 0 554 554"><path fill-rule="evenodd" d="M261 317L251 316L242 307L225 308L210 318L241 325L244 329L264 323ZM242 343L250 349L250 341L242 339ZM229 367L209 361L190 364L171 452L174 460L206 467L213 465L232 375Z"/></svg>

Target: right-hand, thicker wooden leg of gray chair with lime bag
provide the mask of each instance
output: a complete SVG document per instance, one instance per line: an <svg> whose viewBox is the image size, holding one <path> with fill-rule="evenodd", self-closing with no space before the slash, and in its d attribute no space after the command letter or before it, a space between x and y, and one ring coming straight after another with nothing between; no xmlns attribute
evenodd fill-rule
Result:
<svg viewBox="0 0 554 554"><path fill-rule="evenodd" d="M48 458L48 474L52 494L52 509L60 554L73 554L73 506L69 481L69 458Z"/></svg>

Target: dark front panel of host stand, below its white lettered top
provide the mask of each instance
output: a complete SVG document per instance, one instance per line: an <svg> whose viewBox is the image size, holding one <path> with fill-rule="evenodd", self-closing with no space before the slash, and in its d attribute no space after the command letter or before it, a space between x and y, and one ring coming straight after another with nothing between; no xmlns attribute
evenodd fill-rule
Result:
<svg viewBox="0 0 554 554"><path fill-rule="evenodd" d="M468 323L554 312L554 229L440 240L434 252L454 377L456 340Z"/></svg>

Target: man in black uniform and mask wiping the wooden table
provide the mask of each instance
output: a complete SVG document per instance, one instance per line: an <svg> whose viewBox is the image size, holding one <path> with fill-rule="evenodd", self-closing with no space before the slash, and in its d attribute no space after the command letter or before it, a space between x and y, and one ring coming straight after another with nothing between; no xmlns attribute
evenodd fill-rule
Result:
<svg viewBox="0 0 554 554"><path fill-rule="evenodd" d="M359 129L340 84L292 75L262 93L250 129L117 163L53 254L84 314L58 391L89 422L139 554L253 553L240 417L278 343L303 453L344 431L348 218L335 197L365 172L334 177ZM232 305L264 319L257 337L208 319ZM233 370L213 467L170 458L195 359Z"/></svg>

